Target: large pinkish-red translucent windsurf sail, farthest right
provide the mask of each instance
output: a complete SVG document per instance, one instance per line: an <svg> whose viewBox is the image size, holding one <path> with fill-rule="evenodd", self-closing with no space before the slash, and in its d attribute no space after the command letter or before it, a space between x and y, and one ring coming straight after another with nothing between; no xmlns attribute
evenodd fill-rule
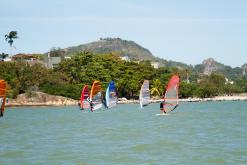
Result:
<svg viewBox="0 0 247 165"><path fill-rule="evenodd" d="M179 87L179 76L173 75L169 80L164 96L163 109L164 111L173 111L178 106L178 87Z"/></svg>

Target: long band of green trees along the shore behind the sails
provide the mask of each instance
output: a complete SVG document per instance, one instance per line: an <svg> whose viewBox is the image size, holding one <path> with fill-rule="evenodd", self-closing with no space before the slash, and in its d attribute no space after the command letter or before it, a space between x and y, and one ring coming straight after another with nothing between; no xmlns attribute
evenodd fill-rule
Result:
<svg viewBox="0 0 247 165"><path fill-rule="evenodd" d="M193 70L175 67L153 68L151 61L124 61L116 53L93 54L84 51L70 59L63 59L54 69L41 64L30 65L23 62L1 62L0 79L8 83L8 97L18 94L42 91L79 99L84 84L91 85L100 80L103 89L113 80L116 82L118 96L137 99L141 84L150 80L153 96L162 96L165 86L173 74L179 74L180 98L213 97L247 92L247 78L238 77L234 84L227 83L220 73L200 75ZM188 82L190 75L190 82Z"/></svg>

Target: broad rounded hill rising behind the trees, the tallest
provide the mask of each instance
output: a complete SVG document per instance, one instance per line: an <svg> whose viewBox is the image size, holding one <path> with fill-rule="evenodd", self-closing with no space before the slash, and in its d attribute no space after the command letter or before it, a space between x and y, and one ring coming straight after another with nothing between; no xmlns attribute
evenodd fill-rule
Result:
<svg viewBox="0 0 247 165"><path fill-rule="evenodd" d="M184 63L167 61L155 57L148 49L138 45L134 41L122 40L121 38L100 38L99 41L68 47L63 50L65 51L65 56L72 56L81 51L91 51L98 54L114 52L122 57L128 56L130 60L150 60L151 62L159 62L160 66L189 67Z"/></svg>

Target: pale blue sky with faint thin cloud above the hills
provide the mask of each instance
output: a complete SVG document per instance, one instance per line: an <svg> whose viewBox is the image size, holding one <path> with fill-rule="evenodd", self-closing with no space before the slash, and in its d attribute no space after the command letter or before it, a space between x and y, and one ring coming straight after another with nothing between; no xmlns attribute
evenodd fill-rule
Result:
<svg viewBox="0 0 247 165"><path fill-rule="evenodd" d="M120 37L167 60L247 63L246 0L1 0L0 6L0 52L10 52L4 35L15 30L14 53Z"/></svg>

